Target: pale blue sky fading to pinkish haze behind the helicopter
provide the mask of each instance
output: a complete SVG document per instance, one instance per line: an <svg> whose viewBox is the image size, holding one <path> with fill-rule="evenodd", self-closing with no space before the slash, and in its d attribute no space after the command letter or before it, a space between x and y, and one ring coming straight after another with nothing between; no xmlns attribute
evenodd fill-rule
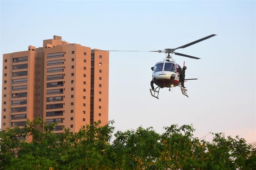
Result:
<svg viewBox="0 0 256 170"><path fill-rule="evenodd" d="M151 51L211 34L217 36L175 51L200 60L173 55L180 65L185 61L186 78L198 78L185 82L189 98L179 87L151 96L151 67L164 53L110 52L109 120L121 131L141 126L163 133L188 124L194 137L224 133L256 141L255 0L0 1L1 58L42 47L53 35L92 49ZM2 71L1 59L1 81Z"/></svg>

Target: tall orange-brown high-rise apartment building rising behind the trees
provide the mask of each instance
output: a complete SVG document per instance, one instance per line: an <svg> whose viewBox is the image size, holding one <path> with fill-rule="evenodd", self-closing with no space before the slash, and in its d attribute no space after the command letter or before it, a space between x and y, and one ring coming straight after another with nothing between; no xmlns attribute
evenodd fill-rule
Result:
<svg viewBox="0 0 256 170"><path fill-rule="evenodd" d="M61 40L3 55L2 124L22 128L43 118L77 132L93 121L108 123L109 52Z"/></svg>

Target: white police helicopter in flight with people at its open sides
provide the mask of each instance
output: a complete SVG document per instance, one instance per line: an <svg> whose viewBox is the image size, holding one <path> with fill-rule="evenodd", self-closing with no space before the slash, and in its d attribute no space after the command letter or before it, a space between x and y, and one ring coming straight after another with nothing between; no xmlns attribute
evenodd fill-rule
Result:
<svg viewBox="0 0 256 170"><path fill-rule="evenodd" d="M186 97L189 97L187 94L187 89L184 87L184 82L189 80L197 80L197 78L190 78L185 79L185 75L182 75L181 73L186 70L185 62L183 63L183 68L179 64L176 63L176 61L172 58L172 55L180 55L187 58L193 58L193 59L200 59L197 57L193 57L191 55L181 54L178 52L175 52L177 49L183 49L188 46L191 46L195 43L199 43L203 40L206 40L210 37L215 36L215 34L209 35L207 37L201 38L199 40L193 41L191 43L188 43L183 46L179 46L174 49L164 49L164 50L156 50L156 51L119 51L119 50L98 50L94 49L94 51L109 51L109 52L158 52L158 53L166 53L166 58L163 59L163 61L160 61L154 65L154 67L151 67L152 73L152 81L151 81L151 89L150 93L154 98L159 99L158 95L160 92L160 89L162 88L169 88L169 91L174 91L176 86L180 86L181 92ZM171 55L170 55L171 54ZM154 89L154 84L157 85L157 87Z"/></svg>

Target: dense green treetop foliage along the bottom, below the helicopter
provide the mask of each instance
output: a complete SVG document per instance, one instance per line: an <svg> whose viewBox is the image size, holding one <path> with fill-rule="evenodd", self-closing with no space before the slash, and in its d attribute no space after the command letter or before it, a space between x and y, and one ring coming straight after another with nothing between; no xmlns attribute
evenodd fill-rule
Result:
<svg viewBox="0 0 256 170"><path fill-rule="evenodd" d="M243 138L212 133L212 142L193 137L190 125L117 131L113 121L70 134L56 124L27 120L21 130L0 131L0 169L5 170L254 170L256 149ZM112 136L113 135L113 136ZM25 140L21 140L24 139ZM31 140L30 140L31 139Z"/></svg>

